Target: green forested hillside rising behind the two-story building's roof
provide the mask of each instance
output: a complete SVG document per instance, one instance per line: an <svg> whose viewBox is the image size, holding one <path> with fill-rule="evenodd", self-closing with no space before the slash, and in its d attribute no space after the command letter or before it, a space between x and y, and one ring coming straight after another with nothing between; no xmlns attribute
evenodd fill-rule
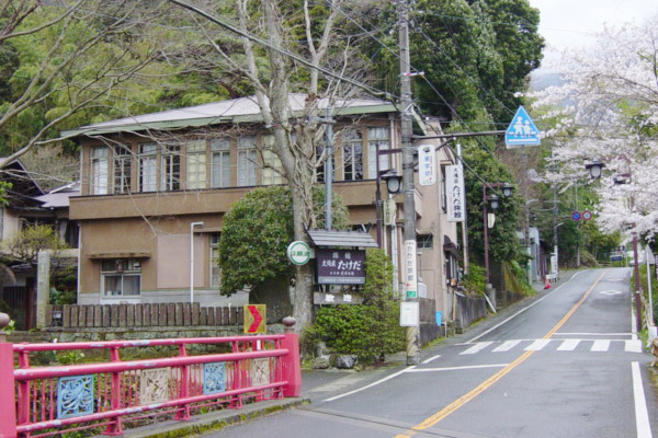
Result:
<svg viewBox="0 0 658 438"><path fill-rule="evenodd" d="M264 37L263 16L256 8L260 2L251 3L194 2ZM328 62L330 70L367 84L370 94L399 94L397 15L390 2L269 3L281 18L282 44L298 59L313 62L326 55L334 59ZM240 22L240 8L250 22ZM424 113L472 129L507 124L519 104L514 93L523 90L541 59L537 11L527 0L420 0L409 12L411 64L426 73L413 82L415 96ZM322 46L327 32L333 35ZM241 55L241 46L242 38L226 26L170 1L8 0L0 7L0 154L18 157L61 143L60 155L76 158L72 142L56 141L64 129L251 95L254 84L245 66L253 62L263 78L271 66L262 46L253 44L252 60ZM347 57L345 69L339 61ZM290 91L307 92L317 73L298 59L286 59ZM325 74L315 80L320 89L337 81ZM333 92L368 94L348 87ZM46 150L57 155L58 150ZM26 161L43 162L34 157ZM60 173L57 181L75 177L68 174Z"/></svg>

